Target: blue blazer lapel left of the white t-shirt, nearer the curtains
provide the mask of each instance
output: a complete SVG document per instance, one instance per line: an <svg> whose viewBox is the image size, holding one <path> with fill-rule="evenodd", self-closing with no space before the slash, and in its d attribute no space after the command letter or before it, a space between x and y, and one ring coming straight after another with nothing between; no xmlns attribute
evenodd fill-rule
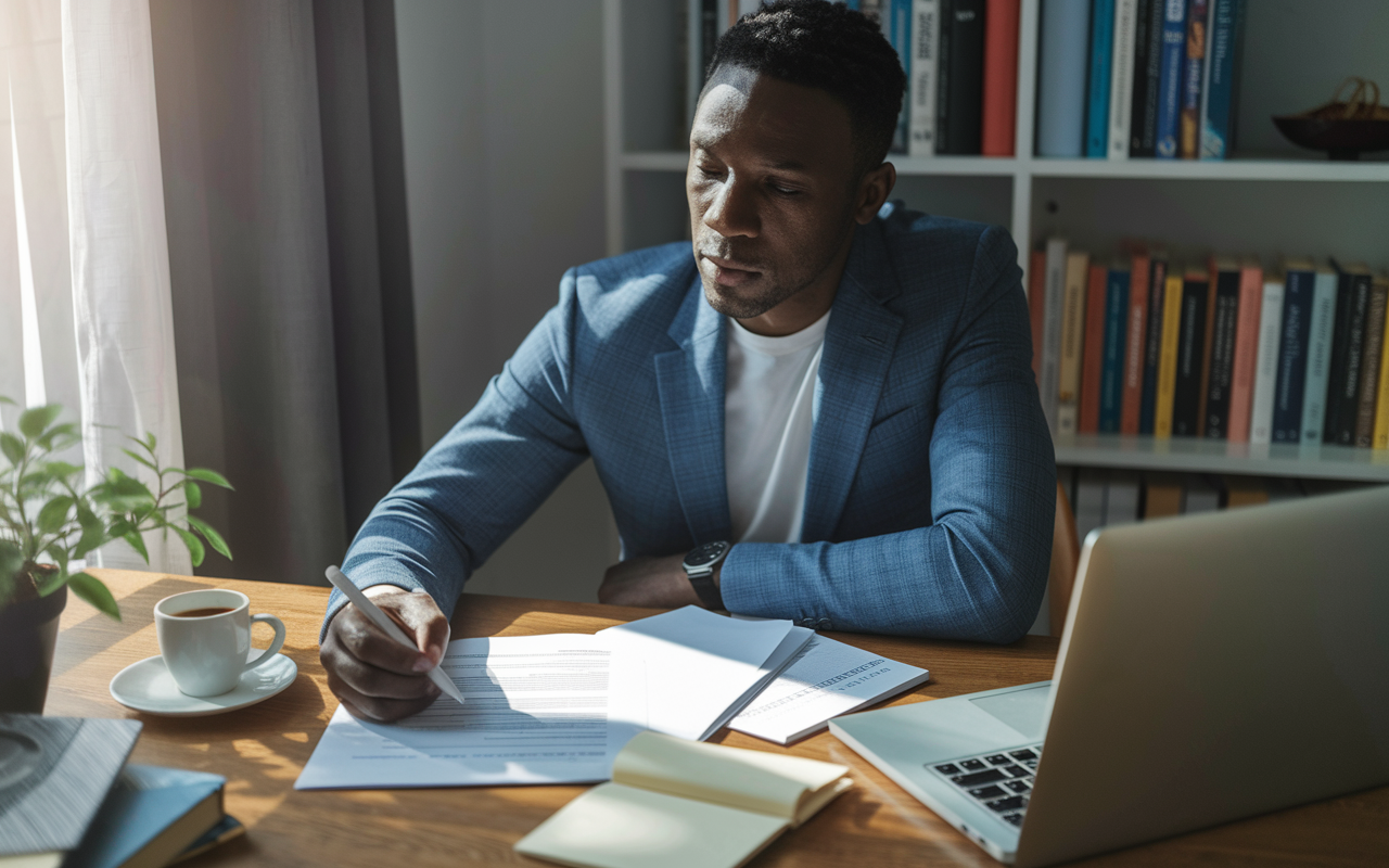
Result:
<svg viewBox="0 0 1389 868"><path fill-rule="evenodd" d="M679 349L656 354L671 475L696 544L729 539L724 471L724 318L704 303L699 274L669 331Z"/></svg>

